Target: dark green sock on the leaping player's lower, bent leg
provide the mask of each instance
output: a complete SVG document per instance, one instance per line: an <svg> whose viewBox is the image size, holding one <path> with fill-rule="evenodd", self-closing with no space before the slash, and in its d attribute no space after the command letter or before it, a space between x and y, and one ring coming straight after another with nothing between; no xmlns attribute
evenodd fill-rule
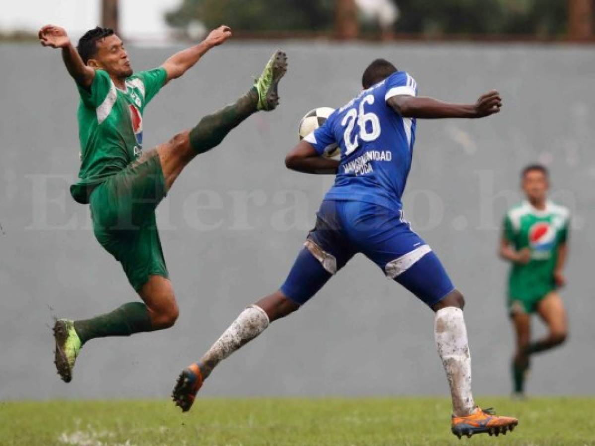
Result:
<svg viewBox="0 0 595 446"><path fill-rule="evenodd" d="M81 344L84 344L96 337L130 336L133 333L152 331L153 328L146 305L129 302L111 313L84 321L74 321L74 330L79 335Z"/></svg>

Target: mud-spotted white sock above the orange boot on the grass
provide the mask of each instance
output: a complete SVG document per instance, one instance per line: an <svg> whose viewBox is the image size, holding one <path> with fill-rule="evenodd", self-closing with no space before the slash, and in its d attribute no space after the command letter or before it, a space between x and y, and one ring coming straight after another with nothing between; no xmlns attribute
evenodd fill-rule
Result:
<svg viewBox="0 0 595 446"><path fill-rule="evenodd" d="M473 412L475 403L471 393L471 355L467 344L467 330L463 311L446 306L436 312L436 345L450 385L455 416Z"/></svg>

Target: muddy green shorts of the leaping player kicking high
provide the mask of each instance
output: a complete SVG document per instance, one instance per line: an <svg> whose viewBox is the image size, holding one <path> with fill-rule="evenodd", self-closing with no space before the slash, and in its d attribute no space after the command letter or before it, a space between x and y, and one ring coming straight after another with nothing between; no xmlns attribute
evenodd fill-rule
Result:
<svg viewBox="0 0 595 446"><path fill-rule="evenodd" d="M155 209L167 195L155 150L109 177L90 197L93 232L139 291L149 276L168 277Z"/></svg>

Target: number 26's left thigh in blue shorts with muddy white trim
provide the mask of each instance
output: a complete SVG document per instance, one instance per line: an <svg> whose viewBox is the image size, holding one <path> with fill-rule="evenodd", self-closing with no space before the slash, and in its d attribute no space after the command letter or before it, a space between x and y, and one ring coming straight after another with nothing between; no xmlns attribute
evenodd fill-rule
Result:
<svg viewBox="0 0 595 446"><path fill-rule="evenodd" d="M336 219L335 205L333 201L322 202L314 229L280 288L297 305L312 298L355 254Z"/></svg>

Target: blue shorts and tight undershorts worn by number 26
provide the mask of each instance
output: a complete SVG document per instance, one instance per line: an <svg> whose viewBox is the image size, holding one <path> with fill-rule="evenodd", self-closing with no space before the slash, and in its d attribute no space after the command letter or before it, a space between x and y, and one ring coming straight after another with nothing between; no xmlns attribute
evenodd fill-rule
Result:
<svg viewBox="0 0 595 446"><path fill-rule="evenodd" d="M281 292L303 305L361 252L428 306L455 287L401 210L362 201L324 200Z"/></svg>

